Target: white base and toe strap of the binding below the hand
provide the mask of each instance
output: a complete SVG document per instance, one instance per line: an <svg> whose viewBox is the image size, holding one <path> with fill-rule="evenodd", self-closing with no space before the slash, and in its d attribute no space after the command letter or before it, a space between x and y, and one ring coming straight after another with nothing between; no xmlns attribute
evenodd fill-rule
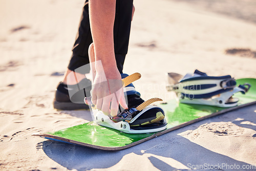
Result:
<svg viewBox="0 0 256 171"><path fill-rule="evenodd" d="M153 99L154 102L158 101L158 98ZM145 102L148 102L148 100ZM129 134L153 133L166 129L167 122L164 119L164 113L161 108L153 105L147 105L140 110L138 107L124 110L116 117L104 115L101 111L94 108L94 121L99 125L110 127ZM148 115L151 110L151 113L153 113L156 117L150 118L147 116L145 119L143 119L143 115ZM155 113L156 110L158 110L157 113Z"/></svg>

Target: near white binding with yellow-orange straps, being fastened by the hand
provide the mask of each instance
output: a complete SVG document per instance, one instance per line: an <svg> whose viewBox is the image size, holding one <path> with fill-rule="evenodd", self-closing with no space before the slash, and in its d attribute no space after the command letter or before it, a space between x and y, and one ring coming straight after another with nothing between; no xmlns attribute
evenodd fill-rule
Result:
<svg viewBox="0 0 256 171"><path fill-rule="evenodd" d="M129 87L129 85L139 79L140 76L139 73L135 73L122 79L123 87L128 86L124 89L124 91L128 90L126 92L127 95L136 92L134 87ZM150 105L156 101L162 101L162 99L148 99L136 108L130 107L129 109L120 111L117 116L111 117L97 110L91 103L90 98L84 99L86 104L91 105L95 123L130 134L153 133L166 129L167 122L164 119L163 110L158 106Z"/></svg>

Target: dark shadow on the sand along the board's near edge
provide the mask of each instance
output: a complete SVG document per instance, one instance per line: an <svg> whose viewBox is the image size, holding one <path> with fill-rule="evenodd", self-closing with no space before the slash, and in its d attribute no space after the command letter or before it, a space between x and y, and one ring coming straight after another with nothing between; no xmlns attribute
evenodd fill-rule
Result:
<svg viewBox="0 0 256 171"><path fill-rule="evenodd" d="M249 165L248 163L241 162L230 158L228 156L215 153L206 149L205 147L198 145L188 139L178 135L187 130L195 130L202 124L210 122L232 122L238 126L245 127L248 129L256 130L255 125L244 124L245 121L250 123L256 123L255 105L248 106L247 108L239 109L236 111L229 112L224 115L209 118L198 123L191 124L183 127L179 130L175 130L168 134L164 134L155 139L149 140L142 144L138 144L134 147L124 149L122 151L102 151L100 149L93 149L88 147L82 147L73 144L66 144L56 141L44 141L42 142L42 149L45 154L57 162L58 164L66 167L67 169L76 170L90 170L93 168L109 168L119 163L125 155L136 154L144 155L150 162L160 170L187 170L182 168L176 168L156 157L162 156L165 158L171 158L177 162L185 165L189 168L189 165L218 165L225 163L227 165ZM236 121L238 118L242 118L240 121ZM209 142L212 143L212 142ZM148 157L147 157L148 156ZM127 164L132 164L130 161ZM142 161L141 161L142 162ZM144 164L144 163L141 163ZM123 168L125 169L125 168ZM222 170L224 168L201 168L196 170ZM236 170L234 168L224 170Z"/></svg>

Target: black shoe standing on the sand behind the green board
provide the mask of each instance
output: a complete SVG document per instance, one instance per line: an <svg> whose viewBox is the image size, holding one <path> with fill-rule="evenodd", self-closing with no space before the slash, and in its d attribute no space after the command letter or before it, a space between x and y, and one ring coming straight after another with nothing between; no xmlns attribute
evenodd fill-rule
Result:
<svg viewBox="0 0 256 171"><path fill-rule="evenodd" d="M89 106L84 103L84 97L90 96L91 81L87 78L82 79L79 84L69 85L59 82L55 91L53 107L57 110L89 110ZM81 85L87 85L82 88ZM79 87L80 86L80 87ZM73 94L70 97L70 94Z"/></svg>

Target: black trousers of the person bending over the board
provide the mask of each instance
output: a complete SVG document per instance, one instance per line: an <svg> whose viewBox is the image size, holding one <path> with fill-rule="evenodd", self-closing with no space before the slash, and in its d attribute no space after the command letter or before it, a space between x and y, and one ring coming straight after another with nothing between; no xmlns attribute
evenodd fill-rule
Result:
<svg viewBox="0 0 256 171"><path fill-rule="evenodd" d="M129 37L131 30L133 11L133 0L116 0L116 16L114 23L114 47L117 68L120 73L123 70L125 55L128 51ZM93 42L89 22L88 0L86 1L80 20L76 41L73 47L73 53L70 59L68 69L75 69L89 63L88 48ZM83 71L82 74L89 73Z"/></svg>

